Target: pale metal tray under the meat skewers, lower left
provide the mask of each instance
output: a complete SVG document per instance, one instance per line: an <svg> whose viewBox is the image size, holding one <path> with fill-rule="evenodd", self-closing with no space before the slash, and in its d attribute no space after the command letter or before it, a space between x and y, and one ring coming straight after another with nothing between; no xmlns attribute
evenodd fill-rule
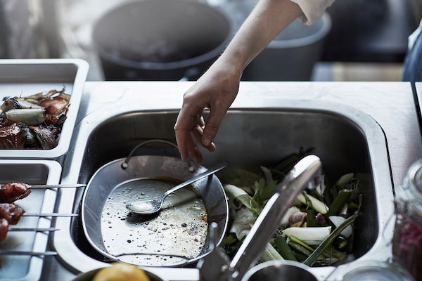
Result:
<svg viewBox="0 0 422 281"><path fill-rule="evenodd" d="M0 183L19 181L29 184L56 184L62 167L56 161L42 159L0 160ZM56 190L32 190L30 195L15 204L27 213L51 213L56 203ZM51 218L23 216L11 227L50 228ZM60 230L58 230L60 231ZM49 235L34 232L9 232L0 242L0 249L19 251L46 251ZM44 259L42 256L0 256L0 280L39 280Z"/></svg>

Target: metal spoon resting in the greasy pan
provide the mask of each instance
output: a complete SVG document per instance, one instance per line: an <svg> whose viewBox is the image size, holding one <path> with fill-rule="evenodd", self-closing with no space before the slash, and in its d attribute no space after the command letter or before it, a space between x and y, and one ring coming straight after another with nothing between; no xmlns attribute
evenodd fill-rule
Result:
<svg viewBox="0 0 422 281"><path fill-rule="evenodd" d="M191 183L194 183L200 180L201 178L210 176L216 173L217 171L224 169L226 166L227 166L227 163L224 163L224 162L217 164L216 166L213 166L212 168L208 169L202 174L199 174L198 176L194 176L193 178L190 178L187 181L184 181L183 183L179 183L178 185L174 186L174 188L167 190L158 198L154 198L152 200L130 202L126 204L126 208L129 209L130 211L133 211L136 214L145 214L145 215L155 214L158 211L160 211L162 207L162 203L164 202L165 197L167 197L167 195L170 195L170 193L176 190L179 190L180 188L184 188L186 185L190 185Z"/></svg>

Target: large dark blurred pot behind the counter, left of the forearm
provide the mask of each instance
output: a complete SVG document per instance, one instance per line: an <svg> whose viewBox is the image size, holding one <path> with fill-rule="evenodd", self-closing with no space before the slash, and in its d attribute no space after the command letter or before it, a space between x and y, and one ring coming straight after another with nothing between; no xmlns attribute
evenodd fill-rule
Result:
<svg viewBox="0 0 422 281"><path fill-rule="evenodd" d="M143 0L96 22L93 41L107 80L198 79L224 50L232 25L195 0Z"/></svg>

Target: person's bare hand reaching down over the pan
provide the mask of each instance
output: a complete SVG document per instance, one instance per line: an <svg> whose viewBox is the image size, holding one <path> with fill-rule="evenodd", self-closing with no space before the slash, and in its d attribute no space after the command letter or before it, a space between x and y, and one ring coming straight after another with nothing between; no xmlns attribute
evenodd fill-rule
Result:
<svg viewBox="0 0 422 281"><path fill-rule="evenodd" d="M184 93L183 104L174 125L181 159L189 155L202 162L197 142L208 151L215 151L214 138L219 126L238 93L241 73L217 62ZM204 110L210 110L204 122Z"/></svg>

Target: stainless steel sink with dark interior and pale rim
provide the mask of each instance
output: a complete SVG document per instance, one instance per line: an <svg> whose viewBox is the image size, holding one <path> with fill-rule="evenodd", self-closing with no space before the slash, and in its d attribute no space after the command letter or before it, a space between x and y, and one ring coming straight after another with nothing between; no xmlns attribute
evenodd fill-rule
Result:
<svg viewBox="0 0 422 281"><path fill-rule="evenodd" d="M63 162L63 183L88 183L103 164L127 157L141 141L160 138L175 142L177 110L124 112L115 108L93 112L77 124ZM383 130L369 115L318 100L286 100L283 107L229 110L215 143L215 152L203 152L203 166L226 161L254 170L275 164L302 147L316 149L328 178L335 180L349 172L364 174L367 181L360 184L364 202L356 222L354 258L385 259L377 251L384 249L384 239L390 238L389 233L383 234L383 226L394 209L392 181ZM175 148L163 145L142 147L136 154L178 156ZM59 211L80 211L82 193L60 190ZM56 226L69 229L53 235L53 247L66 267L85 272L104 266L103 257L84 237L79 218L58 218ZM352 268L354 262L347 265ZM181 279L177 280L198 280L198 273L189 270L194 268L160 268L156 274L163 279L168 278L166 274L179 274ZM335 268L312 270L325 279Z"/></svg>

